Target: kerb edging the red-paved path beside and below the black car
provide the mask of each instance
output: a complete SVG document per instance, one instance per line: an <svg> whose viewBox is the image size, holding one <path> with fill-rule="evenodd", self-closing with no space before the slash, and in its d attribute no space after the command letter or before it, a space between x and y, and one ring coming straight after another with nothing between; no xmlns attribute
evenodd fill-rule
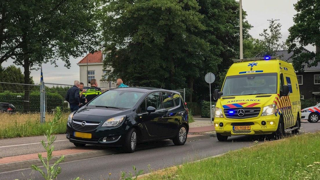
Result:
<svg viewBox="0 0 320 180"><path fill-rule="evenodd" d="M197 141L201 139L208 139L212 137L216 137L216 133L208 134L208 135L199 135L194 137L188 137L187 141ZM75 160L84 160L89 158L96 158L101 156L107 156L111 154L115 154L116 152L108 152L105 150L97 150L97 151L88 151L88 152L79 152L75 154L67 154L64 155L65 162L75 161ZM56 160L58 160L61 156L54 156L52 157L50 164L53 164ZM85 157L85 158L84 158ZM28 169L31 167L31 165L36 166L42 166L42 162L39 159L33 159L33 160L24 160L24 161L17 161L17 162L10 162L10 163L4 163L0 164L0 174L8 171L15 171L20 169Z"/></svg>

